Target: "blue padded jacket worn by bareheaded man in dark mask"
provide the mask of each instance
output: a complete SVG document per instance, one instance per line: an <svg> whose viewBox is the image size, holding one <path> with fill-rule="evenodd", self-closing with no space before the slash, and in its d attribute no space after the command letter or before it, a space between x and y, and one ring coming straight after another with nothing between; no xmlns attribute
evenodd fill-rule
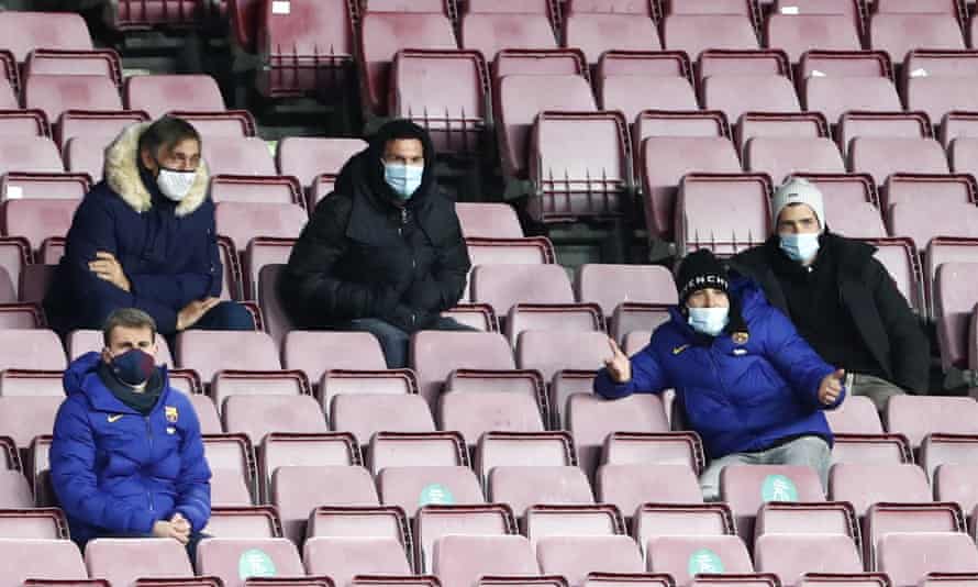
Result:
<svg viewBox="0 0 978 587"><path fill-rule="evenodd" d="M148 534L180 512L193 532L211 516L211 470L190 401L169 386L148 416L120 401L88 353L65 372L51 445L51 480L71 538Z"/></svg>

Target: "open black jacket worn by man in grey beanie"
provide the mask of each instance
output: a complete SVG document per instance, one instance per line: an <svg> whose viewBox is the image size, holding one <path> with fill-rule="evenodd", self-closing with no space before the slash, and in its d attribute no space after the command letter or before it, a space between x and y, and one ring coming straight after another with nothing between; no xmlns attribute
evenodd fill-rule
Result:
<svg viewBox="0 0 978 587"><path fill-rule="evenodd" d="M771 268L774 256L782 254L777 240L777 235L771 236L765 244L738 254L730 266L757 280L770 304L790 317L785 291ZM821 241L837 259L840 299L886 378L908 391L926 394L927 339L889 272L874 257L876 247L830 232Z"/></svg>

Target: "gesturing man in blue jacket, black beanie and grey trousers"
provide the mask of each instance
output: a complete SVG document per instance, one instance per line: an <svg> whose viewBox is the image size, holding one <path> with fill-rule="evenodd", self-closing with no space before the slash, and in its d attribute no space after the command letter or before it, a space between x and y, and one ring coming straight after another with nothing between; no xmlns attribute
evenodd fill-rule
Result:
<svg viewBox="0 0 978 587"><path fill-rule="evenodd" d="M834 369L771 308L749 280L729 283L709 251L697 251L677 277L679 308L631 359L612 341L594 390L608 399L675 388L687 422L712 459L700 479L719 499L731 464L808 465L826 486L832 432L823 409L845 397Z"/></svg>

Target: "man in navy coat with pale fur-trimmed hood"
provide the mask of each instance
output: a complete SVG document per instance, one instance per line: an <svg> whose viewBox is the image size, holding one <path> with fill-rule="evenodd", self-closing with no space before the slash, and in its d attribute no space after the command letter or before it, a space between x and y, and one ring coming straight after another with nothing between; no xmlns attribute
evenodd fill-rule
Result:
<svg viewBox="0 0 978 587"><path fill-rule="evenodd" d="M44 300L65 334L99 329L138 308L171 336L189 328L252 330L252 314L221 301L222 266L200 134L163 117L133 124L105 149L104 180L85 196Z"/></svg>

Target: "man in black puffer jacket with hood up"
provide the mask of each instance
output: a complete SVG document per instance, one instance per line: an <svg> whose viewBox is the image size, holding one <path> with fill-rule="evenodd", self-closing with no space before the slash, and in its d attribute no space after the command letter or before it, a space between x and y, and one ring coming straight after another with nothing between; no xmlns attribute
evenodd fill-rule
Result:
<svg viewBox="0 0 978 587"><path fill-rule="evenodd" d="M440 315L462 298L471 264L434 163L427 133L404 120L346 163L279 281L298 328L370 332L390 368L407 366L413 332L468 330Z"/></svg>

